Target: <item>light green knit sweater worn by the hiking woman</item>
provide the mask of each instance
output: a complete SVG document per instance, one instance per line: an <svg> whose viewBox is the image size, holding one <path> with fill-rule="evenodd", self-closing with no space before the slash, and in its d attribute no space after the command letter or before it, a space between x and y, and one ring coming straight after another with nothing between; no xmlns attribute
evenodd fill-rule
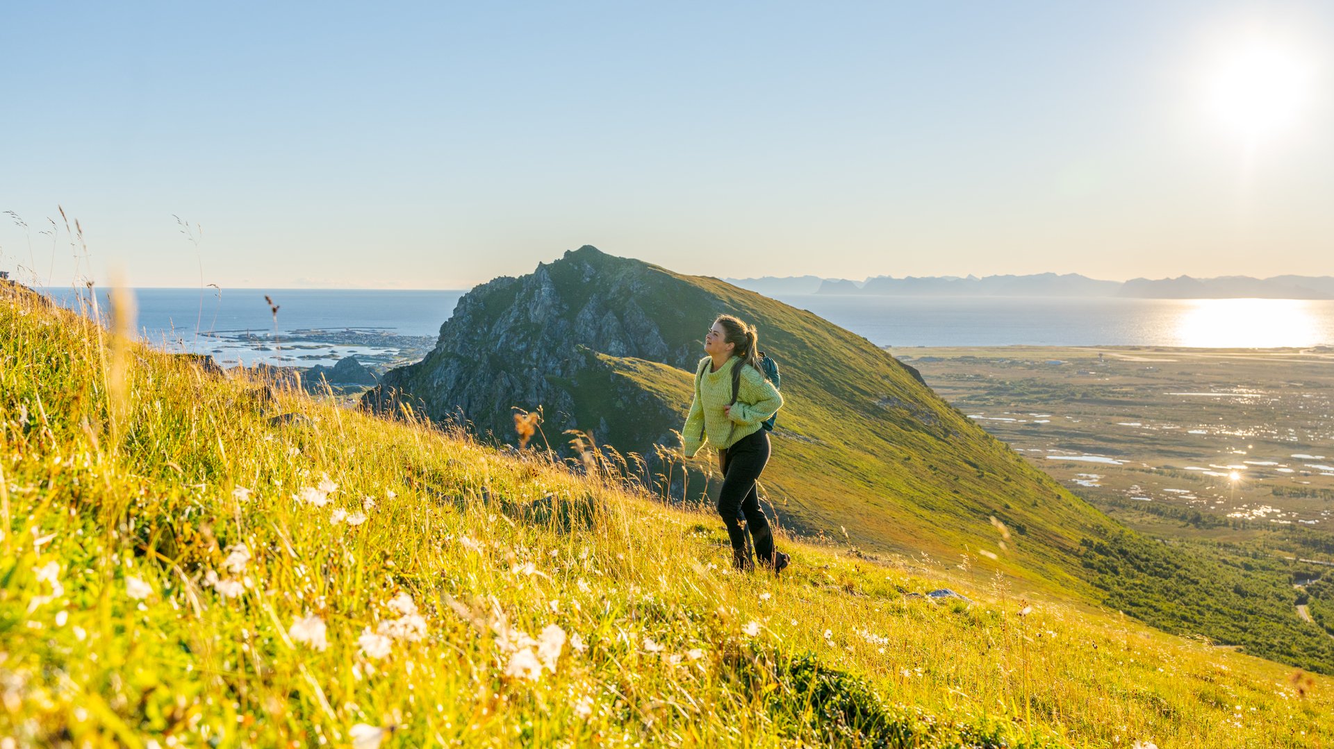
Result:
<svg viewBox="0 0 1334 749"><path fill-rule="evenodd" d="M759 432L760 422L783 406L783 396L774 384L754 367L742 367L740 361L734 356L718 372L711 372L712 357L706 356L695 367L695 400L680 432L686 457L694 457L704 442L716 448L735 445ZM736 405L724 412L723 406L732 401L732 367L742 367L742 380L736 389Z"/></svg>

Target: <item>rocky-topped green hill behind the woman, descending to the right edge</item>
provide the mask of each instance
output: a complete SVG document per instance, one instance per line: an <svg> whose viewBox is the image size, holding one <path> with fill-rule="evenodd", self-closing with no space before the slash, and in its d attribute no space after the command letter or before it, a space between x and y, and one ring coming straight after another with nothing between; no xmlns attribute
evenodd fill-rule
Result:
<svg viewBox="0 0 1334 749"><path fill-rule="evenodd" d="M479 430L512 434L511 405L544 406L558 446L567 425L592 430L600 444L644 456L627 461L644 485L667 476L674 493L688 489L708 505L711 456L686 464L660 442L676 442L670 430L684 420L703 331L715 315L735 313L759 324L760 348L783 369L787 405L763 482L788 530L872 556L942 560L978 584L1000 572L1030 598L1094 601L1167 632L1334 673L1334 640L1297 616L1295 590L1266 578L1285 562L1259 569L1127 532L950 406L915 371L810 312L587 247L480 287L460 308L471 312L456 313L442 341L503 343L504 365L490 371L500 394L467 413ZM526 309L542 313L535 321ZM588 319L603 323L579 324ZM612 333L620 328L660 339L666 361L600 351L634 348ZM440 345L399 371L396 384L426 413L448 416L452 397L468 393L438 388L440 373L483 351ZM534 388L539 376L546 390ZM535 394L543 392L568 412Z"/></svg>

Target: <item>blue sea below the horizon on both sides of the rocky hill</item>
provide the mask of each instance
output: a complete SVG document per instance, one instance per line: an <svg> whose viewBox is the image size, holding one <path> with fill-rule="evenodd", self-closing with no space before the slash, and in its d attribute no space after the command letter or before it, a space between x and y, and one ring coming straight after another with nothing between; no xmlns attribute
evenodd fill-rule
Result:
<svg viewBox="0 0 1334 749"><path fill-rule="evenodd" d="M342 289L135 289L136 329L171 351L209 353L224 367L292 364L293 351L271 339L300 333L301 365L348 353L386 353L392 345L347 344L347 332L424 337L439 333L466 291ZM109 309L105 292L99 305ZM277 305L275 315L265 301ZM52 297L77 307L73 292ZM882 297L788 295L780 297L871 343L916 347L1190 347L1313 348L1334 345L1334 300L1145 300L1117 297ZM702 309L707 317L714 311ZM763 336L764 321L755 321ZM343 340L342 344L338 340Z"/></svg>

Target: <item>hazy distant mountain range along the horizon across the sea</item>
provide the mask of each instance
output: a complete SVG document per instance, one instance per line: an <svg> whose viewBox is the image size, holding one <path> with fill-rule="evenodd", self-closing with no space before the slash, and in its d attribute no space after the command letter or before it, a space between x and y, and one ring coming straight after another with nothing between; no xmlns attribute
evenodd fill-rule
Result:
<svg viewBox="0 0 1334 749"><path fill-rule="evenodd" d="M1334 299L1334 276L1219 276L1217 279L1133 279L1101 281L1079 273L1029 276L875 276L864 281L792 276L724 279L771 297L794 295L866 296L1038 296L1129 299Z"/></svg>

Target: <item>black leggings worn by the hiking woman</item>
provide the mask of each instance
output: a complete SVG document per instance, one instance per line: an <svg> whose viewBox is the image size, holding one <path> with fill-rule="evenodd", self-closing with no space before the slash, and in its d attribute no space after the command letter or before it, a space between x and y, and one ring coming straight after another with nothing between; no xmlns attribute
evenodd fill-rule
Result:
<svg viewBox="0 0 1334 749"><path fill-rule="evenodd" d="M719 450L723 468L723 488L718 492L718 514L727 524L732 541L732 564L742 569L754 568L746 548L746 530L755 544L755 557L760 564L774 564L774 532L759 508L755 481L768 462L768 433L764 429L742 437L735 445ZM742 526L740 516L746 516Z"/></svg>

